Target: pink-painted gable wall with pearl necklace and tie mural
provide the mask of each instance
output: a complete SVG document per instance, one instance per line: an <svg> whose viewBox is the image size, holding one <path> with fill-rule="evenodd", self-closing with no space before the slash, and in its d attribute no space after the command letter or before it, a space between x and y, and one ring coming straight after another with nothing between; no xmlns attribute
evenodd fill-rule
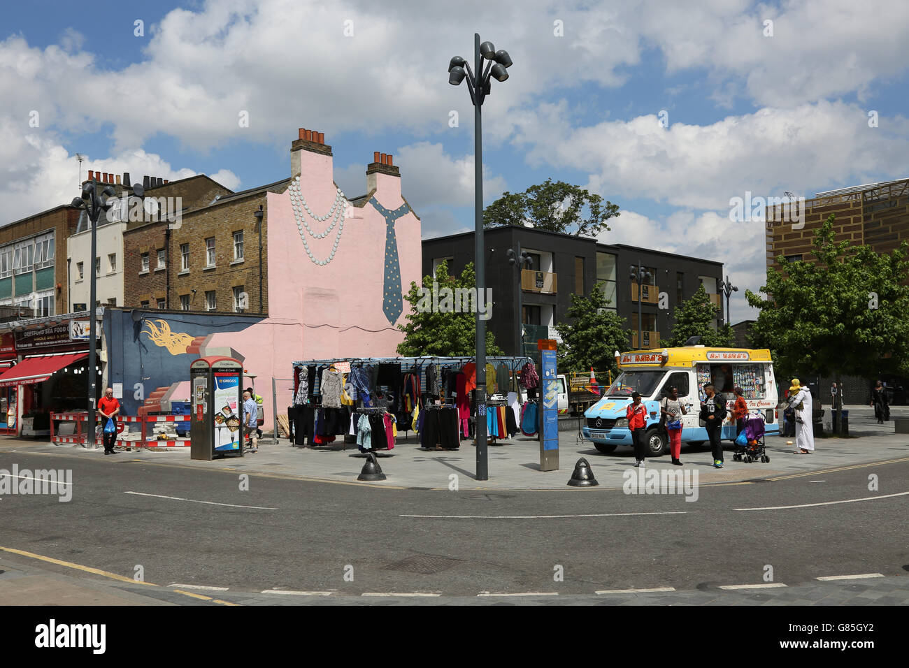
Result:
<svg viewBox="0 0 909 668"><path fill-rule="evenodd" d="M335 202L332 157L300 151L300 190L310 209L324 215ZM292 177L296 174L292 174ZM375 199L387 209L404 200L400 177L375 174ZM345 193L357 196L365 192ZM342 203L346 204L346 202ZM323 357L395 356L404 338L395 325L410 311L389 323L383 313L385 217L372 204L346 206L344 231L334 259L324 266L306 254L297 229L290 192L269 193L265 221L268 230L268 310L270 317L236 334L215 334L210 345L230 346L245 355L245 368L257 374L256 390L265 398L265 426L272 424L272 378L286 379L291 364ZM322 233L331 224L305 214L310 229ZM351 217L353 215L354 217ZM317 260L331 254L338 227L323 239L304 229L310 252ZM395 222L401 289L421 280L420 220L411 211ZM327 325L327 326L319 326ZM284 413L286 406L278 406Z"/></svg>

